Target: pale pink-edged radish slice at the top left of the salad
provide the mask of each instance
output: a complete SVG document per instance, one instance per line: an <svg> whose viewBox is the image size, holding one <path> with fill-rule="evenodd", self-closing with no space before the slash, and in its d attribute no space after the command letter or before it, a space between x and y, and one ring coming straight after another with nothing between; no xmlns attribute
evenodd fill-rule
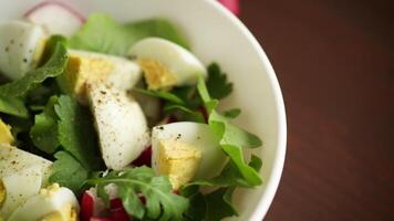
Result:
<svg viewBox="0 0 394 221"><path fill-rule="evenodd" d="M28 21L40 24L49 34L73 35L84 23L85 18L71 7L58 2L45 1L32 9L25 14Z"/></svg>

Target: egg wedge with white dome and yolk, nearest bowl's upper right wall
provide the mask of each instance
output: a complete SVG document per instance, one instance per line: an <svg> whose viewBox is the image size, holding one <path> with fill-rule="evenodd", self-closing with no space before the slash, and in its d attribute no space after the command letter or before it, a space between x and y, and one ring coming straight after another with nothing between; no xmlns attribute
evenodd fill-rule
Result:
<svg viewBox="0 0 394 221"><path fill-rule="evenodd" d="M128 55L136 57L151 90L196 84L199 75L207 75L205 66L194 54L168 40L141 40L132 46Z"/></svg>

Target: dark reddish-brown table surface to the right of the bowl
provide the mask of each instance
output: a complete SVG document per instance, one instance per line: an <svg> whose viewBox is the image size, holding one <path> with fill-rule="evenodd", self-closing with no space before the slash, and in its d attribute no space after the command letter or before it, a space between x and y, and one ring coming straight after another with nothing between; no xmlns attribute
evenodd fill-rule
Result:
<svg viewBox="0 0 394 221"><path fill-rule="evenodd" d="M289 124L266 220L394 220L394 1L241 2Z"/></svg>

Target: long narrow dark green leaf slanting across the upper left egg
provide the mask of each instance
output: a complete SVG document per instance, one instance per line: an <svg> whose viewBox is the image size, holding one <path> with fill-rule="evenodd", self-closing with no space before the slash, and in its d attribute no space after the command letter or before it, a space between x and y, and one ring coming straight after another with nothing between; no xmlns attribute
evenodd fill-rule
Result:
<svg viewBox="0 0 394 221"><path fill-rule="evenodd" d="M43 66L29 71L22 78L1 85L0 94L4 97L22 96L44 80L62 74L66 62L66 49L62 43L58 43L52 56Z"/></svg>

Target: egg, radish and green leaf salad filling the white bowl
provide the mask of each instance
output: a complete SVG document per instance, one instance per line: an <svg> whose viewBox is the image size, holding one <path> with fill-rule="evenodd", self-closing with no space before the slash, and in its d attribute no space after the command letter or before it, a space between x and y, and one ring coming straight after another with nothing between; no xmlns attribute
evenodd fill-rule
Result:
<svg viewBox="0 0 394 221"><path fill-rule="evenodd" d="M0 220L217 221L262 183L232 83L166 19L44 2L0 23Z"/></svg>

